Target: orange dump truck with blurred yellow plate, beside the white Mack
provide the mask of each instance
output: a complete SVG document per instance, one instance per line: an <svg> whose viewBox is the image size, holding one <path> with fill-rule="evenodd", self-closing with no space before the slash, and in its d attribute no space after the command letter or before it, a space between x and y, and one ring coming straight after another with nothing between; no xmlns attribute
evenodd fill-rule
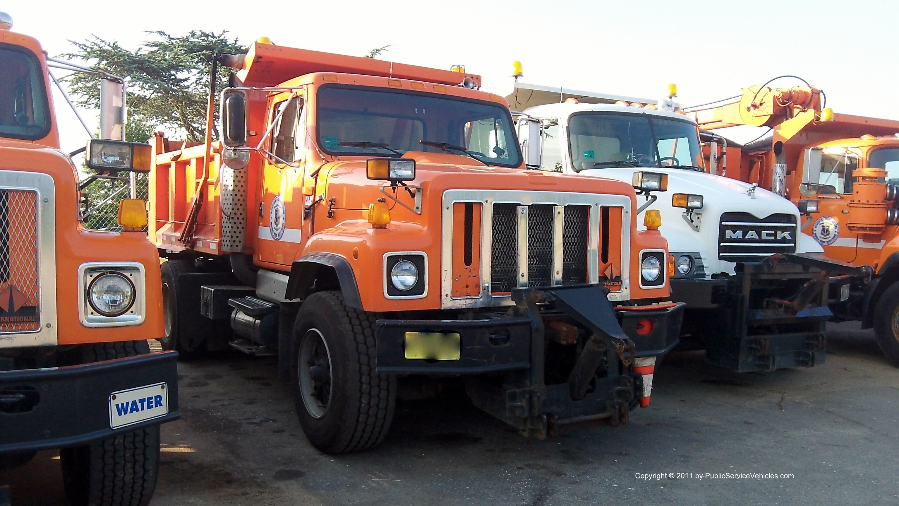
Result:
<svg viewBox="0 0 899 506"><path fill-rule="evenodd" d="M222 61L221 140L153 140L166 348L276 354L328 453L378 444L435 378L537 437L648 403L682 304L631 185L523 170L478 76L262 42Z"/></svg>

